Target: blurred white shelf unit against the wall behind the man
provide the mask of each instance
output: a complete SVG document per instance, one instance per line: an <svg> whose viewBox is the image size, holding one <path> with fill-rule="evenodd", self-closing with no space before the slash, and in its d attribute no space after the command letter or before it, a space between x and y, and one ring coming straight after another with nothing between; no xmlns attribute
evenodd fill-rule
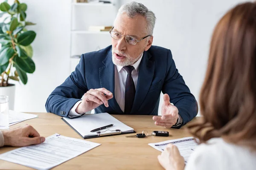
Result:
<svg viewBox="0 0 256 170"><path fill-rule="evenodd" d="M111 29L113 26L119 0L110 0L110 2L77 3L76 0L71 1L70 73L75 71L81 54L98 51L111 45L109 31L100 31L102 28L99 28Z"/></svg>

